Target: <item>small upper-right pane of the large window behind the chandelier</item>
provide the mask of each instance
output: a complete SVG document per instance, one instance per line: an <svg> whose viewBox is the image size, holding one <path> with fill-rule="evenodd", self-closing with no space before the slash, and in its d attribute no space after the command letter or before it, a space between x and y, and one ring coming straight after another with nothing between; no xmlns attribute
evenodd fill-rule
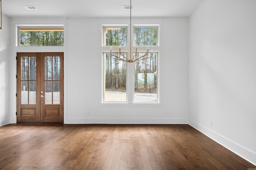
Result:
<svg viewBox="0 0 256 170"><path fill-rule="evenodd" d="M134 45L156 46L157 27L134 27Z"/></svg>

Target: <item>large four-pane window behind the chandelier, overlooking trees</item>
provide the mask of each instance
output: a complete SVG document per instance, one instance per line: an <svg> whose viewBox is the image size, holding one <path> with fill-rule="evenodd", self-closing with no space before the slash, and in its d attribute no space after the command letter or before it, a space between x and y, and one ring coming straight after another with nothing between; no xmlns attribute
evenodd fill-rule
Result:
<svg viewBox="0 0 256 170"><path fill-rule="evenodd" d="M145 55L149 46L149 58L126 63L110 56L119 57L119 47L124 57L129 58L130 47L128 27L103 26L103 94L102 102L122 103L158 103L159 102L159 80L158 80L158 55L159 48L151 52L151 48L158 47L158 26L134 26L132 29L132 51L135 59ZM106 48L108 47L108 49ZM136 48L138 50L135 55ZM146 57L145 57L146 58ZM132 75L129 76L128 75ZM130 89L130 90L128 90ZM133 89L133 90L132 90Z"/></svg>

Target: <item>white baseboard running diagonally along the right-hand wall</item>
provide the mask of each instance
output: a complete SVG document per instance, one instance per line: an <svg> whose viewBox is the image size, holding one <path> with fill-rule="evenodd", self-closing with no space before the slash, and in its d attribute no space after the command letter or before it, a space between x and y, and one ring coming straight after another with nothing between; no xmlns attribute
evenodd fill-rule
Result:
<svg viewBox="0 0 256 170"><path fill-rule="evenodd" d="M228 150L234 152L238 156L244 158L245 160L256 166L256 153L234 143L233 141L230 141L229 139L223 137L222 135L219 135L218 133L208 129L203 125L200 125L199 123L191 119L188 119L188 124L197 129L198 131L202 132L204 135L210 137L212 140L216 141L220 145L224 146Z"/></svg>

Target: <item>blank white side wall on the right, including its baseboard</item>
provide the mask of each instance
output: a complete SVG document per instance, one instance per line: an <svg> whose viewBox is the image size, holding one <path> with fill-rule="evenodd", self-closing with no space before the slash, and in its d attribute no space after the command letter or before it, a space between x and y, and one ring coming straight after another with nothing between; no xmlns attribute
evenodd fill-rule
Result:
<svg viewBox="0 0 256 170"><path fill-rule="evenodd" d="M256 1L204 0L189 31L189 124L256 164Z"/></svg>

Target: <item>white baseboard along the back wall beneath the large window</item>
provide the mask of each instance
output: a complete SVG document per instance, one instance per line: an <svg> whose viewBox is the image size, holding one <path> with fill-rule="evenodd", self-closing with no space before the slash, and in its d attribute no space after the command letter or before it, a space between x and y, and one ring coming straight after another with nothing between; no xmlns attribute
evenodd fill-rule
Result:
<svg viewBox="0 0 256 170"><path fill-rule="evenodd" d="M66 118L65 124L188 124L188 119L159 118Z"/></svg>

